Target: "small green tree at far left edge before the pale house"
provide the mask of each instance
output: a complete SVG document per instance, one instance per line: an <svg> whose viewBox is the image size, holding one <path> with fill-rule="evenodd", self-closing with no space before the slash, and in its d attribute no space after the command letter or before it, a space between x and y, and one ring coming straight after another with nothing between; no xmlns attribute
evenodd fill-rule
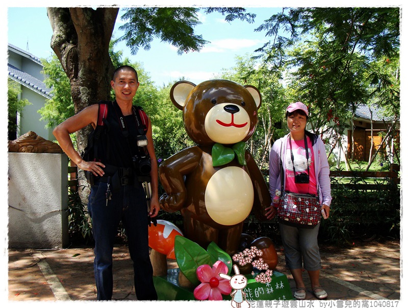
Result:
<svg viewBox="0 0 408 308"><path fill-rule="evenodd" d="M31 105L27 99L20 100L21 86L16 81L8 79L8 139L14 140L17 138L17 113L21 112L25 106Z"/></svg>

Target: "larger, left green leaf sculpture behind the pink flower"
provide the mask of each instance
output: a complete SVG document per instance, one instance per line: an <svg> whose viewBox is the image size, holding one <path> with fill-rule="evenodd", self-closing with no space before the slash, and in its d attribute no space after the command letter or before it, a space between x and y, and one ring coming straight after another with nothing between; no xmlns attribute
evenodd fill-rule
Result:
<svg viewBox="0 0 408 308"><path fill-rule="evenodd" d="M180 271L194 286L198 286L200 281L197 278L196 270L203 264L213 265L210 254L197 243L181 235L175 236L174 253Z"/></svg>

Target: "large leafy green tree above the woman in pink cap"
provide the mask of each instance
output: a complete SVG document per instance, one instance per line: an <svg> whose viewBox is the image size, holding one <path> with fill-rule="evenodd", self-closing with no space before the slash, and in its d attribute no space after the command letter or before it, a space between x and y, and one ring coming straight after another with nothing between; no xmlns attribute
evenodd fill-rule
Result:
<svg viewBox="0 0 408 308"><path fill-rule="evenodd" d="M398 8L289 8L256 29L273 37L258 51L272 69L288 65L288 93L311 107L314 132L332 147L359 104L375 98L399 114L399 17Z"/></svg>

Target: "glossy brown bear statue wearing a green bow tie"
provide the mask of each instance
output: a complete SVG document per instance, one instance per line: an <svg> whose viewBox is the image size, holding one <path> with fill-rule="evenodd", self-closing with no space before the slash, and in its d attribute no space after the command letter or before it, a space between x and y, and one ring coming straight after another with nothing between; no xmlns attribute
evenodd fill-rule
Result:
<svg viewBox="0 0 408 308"><path fill-rule="evenodd" d="M160 165L166 191L160 205L168 212L181 211L186 238L204 248L215 242L235 253L243 221L251 211L265 218L271 204L266 182L245 145L257 127L261 94L254 86L228 80L198 85L179 81L170 98L183 110L184 126L197 146Z"/></svg>

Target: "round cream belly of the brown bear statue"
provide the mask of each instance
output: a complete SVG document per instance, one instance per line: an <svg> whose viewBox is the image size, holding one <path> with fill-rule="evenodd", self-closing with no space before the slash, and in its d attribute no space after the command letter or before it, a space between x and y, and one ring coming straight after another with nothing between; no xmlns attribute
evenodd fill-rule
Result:
<svg viewBox="0 0 408 308"><path fill-rule="evenodd" d="M253 204L249 175L239 167L226 167L209 180L205 203L210 217L221 225L238 224L248 217Z"/></svg>

